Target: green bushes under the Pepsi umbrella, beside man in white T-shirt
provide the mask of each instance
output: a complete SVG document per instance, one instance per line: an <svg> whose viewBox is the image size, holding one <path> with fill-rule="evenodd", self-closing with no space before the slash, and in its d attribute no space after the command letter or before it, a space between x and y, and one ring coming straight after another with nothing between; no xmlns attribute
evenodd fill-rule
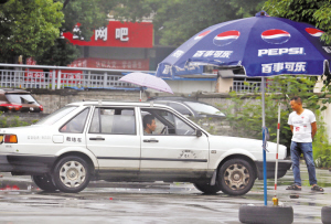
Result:
<svg viewBox="0 0 331 224"><path fill-rule="evenodd" d="M265 95L266 126L269 129L270 141L277 140L278 104L280 113L280 143L288 147L291 141L291 131L287 125L288 115L292 111L288 97L300 96L303 107L317 111L320 109L319 97L311 89L316 77L305 76L276 76L268 81L268 93ZM248 84L246 84L248 85ZM220 105L226 113L226 120L236 131L236 136L261 139L261 96L258 92L254 95L245 93L231 93L233 104L231 107ZM225 107L225 108L222 108ZM322 135L322 134L321 134ZM323 132L324 135L324 132Z"/></svg>

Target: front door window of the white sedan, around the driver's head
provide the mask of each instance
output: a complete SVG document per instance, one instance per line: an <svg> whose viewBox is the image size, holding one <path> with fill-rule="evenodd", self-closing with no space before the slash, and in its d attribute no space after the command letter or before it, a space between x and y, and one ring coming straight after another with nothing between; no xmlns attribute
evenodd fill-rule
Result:
<svg viewBox="0 0 331 224"><path fill-rule="evenodd" d="M167 135L167 136L193 136L195 129L184 122L174 114L163 109L141 109L141 119L143 124L143 135L150 135L146 131L147 124L145 116L151 116L154 119L156 127L152 135Z"/></svg>

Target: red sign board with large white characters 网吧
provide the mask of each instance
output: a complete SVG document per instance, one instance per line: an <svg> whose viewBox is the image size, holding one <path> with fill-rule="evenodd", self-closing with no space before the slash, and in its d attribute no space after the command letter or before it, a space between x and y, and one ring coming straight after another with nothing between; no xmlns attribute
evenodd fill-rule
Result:
<svg viewBox="0 0 331 224"><path fill-rule="evenodd" d="M106 28L94 31L89 41L79 40L79 23L72 32L63 33L74 45L81 46L117 46L117 47L147 47L153 45L153 24L150 22L109 21Z"/></svg>

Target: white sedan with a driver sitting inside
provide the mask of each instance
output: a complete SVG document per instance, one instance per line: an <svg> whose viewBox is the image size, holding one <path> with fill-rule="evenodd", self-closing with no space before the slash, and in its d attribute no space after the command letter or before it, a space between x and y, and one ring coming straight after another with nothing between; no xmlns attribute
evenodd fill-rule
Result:
<svg viewBox="0 0 331 224"><path fill-rule="evenodd" d="M148 135L142 118L152 116ZM204 193L242 195L263 179L261 141L213 136L153 103L72 103L29 127L0 130L0 172L32 175L44 191L75 193L90 180L192 182ZM278 178L291 162L279 146ZM267 178L276 145L268 142Z"/></svg>

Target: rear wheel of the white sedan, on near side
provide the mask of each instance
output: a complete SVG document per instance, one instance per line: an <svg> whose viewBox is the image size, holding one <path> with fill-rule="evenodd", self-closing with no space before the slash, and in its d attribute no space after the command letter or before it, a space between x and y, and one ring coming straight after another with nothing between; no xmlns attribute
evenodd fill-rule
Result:
<svg viewBox="0 0 331 224"><path fill-rule="evenodd" d="M62 192L77 193L83 191L90 179L88 163L81 157L64 157L55 164L53 179Z"/></svg>

